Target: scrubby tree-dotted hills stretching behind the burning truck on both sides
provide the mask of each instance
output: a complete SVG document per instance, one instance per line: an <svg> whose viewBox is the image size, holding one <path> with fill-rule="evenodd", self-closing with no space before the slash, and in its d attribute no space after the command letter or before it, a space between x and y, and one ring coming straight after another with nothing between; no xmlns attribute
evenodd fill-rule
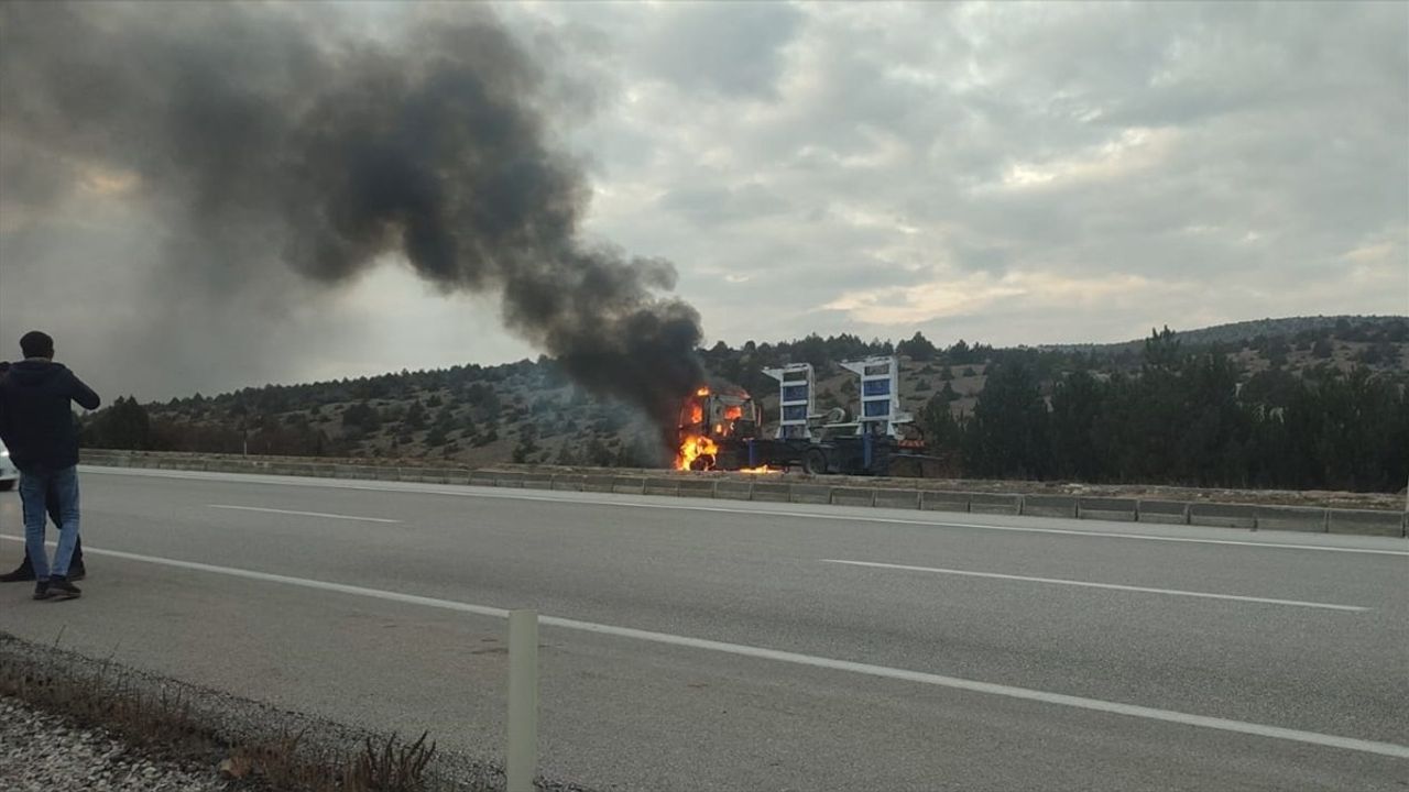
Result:
<svg viewBox="0 0 1409 792"><path fill-rule="evenodd" d="M1143 344L1038 349L965 341L941 348L916 333L898 344L809 335L738 348L720 342L699 354L714 376L755 396L776 392L764 368L810 362L827 375L840 361L899 354L929 372L914 375L923 395L907 407L930 452L945 461L944 475L1403 488L1409 320L1274 321L1293 323L1291 333L1196 347L1168 330ZM948 380L971 368L982 368L985 382L972 410L960 412ZM936 372L938 385L930 382ZM623 410L562 390L565 383L557 364L540 358L197 393L165 404L118 399L85 420L83 437L106 448L310 457L390 447L451 458L495 444L490 451L504 461L651 464L650 450L623 440ZM511 443L496 444L500 435Z"/></svg>

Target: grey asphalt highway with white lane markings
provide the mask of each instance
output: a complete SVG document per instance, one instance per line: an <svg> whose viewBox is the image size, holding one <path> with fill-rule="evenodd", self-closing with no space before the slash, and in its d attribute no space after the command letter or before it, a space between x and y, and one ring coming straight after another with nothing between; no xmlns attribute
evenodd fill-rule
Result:
<svg viewBox="0 0 1409 792"><path fill-rule="evenodd" d="M85 469L0 630L600 789L1409 789L1409 543ZM0 565L18 559L0 495Z"/></svg>

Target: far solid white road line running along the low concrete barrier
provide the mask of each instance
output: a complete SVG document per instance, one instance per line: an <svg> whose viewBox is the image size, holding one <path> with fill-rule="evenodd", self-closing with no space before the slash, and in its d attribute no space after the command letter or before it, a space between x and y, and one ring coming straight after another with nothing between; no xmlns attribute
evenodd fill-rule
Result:
<svg viewBox="0 0 1409 792"><path fill-rule="evenodd" d="M882 523L882 524L898 524L898 526L920 526L929 528L979 528L985 531L1016 531L1016 533L1031 533L1031 534L1058 534L1058 536L1078 536L1078 537L1109 537L1109 538L1130 538L1143 541L1172 541L1182 544L1227 544L1240 547L1267 547L1275 550L1313 550L1319 552L1354 552L1363 555L1402 555L1409 557L1409 551L1403 550L1374 550L1367 547L1329 547L1324 544L1295 544L1295 543L1271 543L1271 541L1244 541L1244 540L1226 540L1226 538L1193 538L1193 537L1161 537L1151 534L1133 534L1122 531L1081 531L1075 528L1038 528L1030 526L991 526L983 523L951 523L951 521L933 521L933 520L907 520L903 517L872 517L865 514L824 514L819 512L783 512L772 509L737 509L728 506L692 506L685 503L640 503L634 500L606 500L606 499L573 499L573 497L544 497L541 495L526 495L523 490L519 492L504 492L500 489L475 489L471 485L454 485L455 489L445 489L440 485L423 485L413 482L386 482L399 483L402 486L385 486L385 485L369 485L369 483L349 483L349 479L306 479L299 481L297 476L265 476L258 474L209 474L199 471L148 471L148 469L128 469L128 468L87 468L85 472L90 474L107 474L117 476L148 476L148 478L172 478L172 479L189 479L189 481L213 481L213 482L227 482L227 483L258 483L271 486L307 486L307 488L321 488L321 489L352 489L362 492L399 492L403 495L447 495L452 497L490 497L500 500L534 500L540 503L558 503L564 506L617 506L624 509L666 509L678 512L716 512L724 514L747 514L751 517L758 516L778 516L778 517L800 517L805 520L840 520L848 523ZM566 493L565 495L571 495ZM606 493L603 493L606 495ZM1137 523L1141 524L1141 523ZM1143 523L1150 524L1150 523Z"/></svg>

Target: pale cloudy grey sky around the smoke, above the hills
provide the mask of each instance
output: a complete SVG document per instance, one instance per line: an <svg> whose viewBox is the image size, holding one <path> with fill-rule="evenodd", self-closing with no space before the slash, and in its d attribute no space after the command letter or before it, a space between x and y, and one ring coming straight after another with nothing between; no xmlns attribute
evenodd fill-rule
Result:
<svg viewBox="0 0 1409 792"><path fill-rule="evenodd" d="M375 38L455 7L304 13ZM588 173L582 231L672 261L709 344L1122 341L1409 313L1402 3L497 16L562 93L551 134ZM0 173L14 151L0 147ZM42 221L0 180L0 349L46 327L100 392L537 355L500 328L493 295L444 293L396 256L335 289L269 271L254 296L232 285L245 297L228 310L182 310L144 269L159 221L134 207L141 187L103 169L73 179ZM161 344L127 334L154 310Z"/></svg>

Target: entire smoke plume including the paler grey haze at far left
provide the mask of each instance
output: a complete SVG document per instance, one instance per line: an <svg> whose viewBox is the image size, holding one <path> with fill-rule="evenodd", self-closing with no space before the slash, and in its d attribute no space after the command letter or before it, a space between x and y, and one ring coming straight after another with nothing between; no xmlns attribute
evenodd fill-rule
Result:
<svg viewBox="0 0 1409 792"><path fill-rule="evenodd" d="M550 75L478 10L354 30L328 6L0 6L6 310L58 323L61 357L103 327L123 358L103 365L240 368L403 259L492 296L589 389L668 413L700 379L699 314L668 262L583 241ZM79 311L58 283L108 299Z"/></svg>

